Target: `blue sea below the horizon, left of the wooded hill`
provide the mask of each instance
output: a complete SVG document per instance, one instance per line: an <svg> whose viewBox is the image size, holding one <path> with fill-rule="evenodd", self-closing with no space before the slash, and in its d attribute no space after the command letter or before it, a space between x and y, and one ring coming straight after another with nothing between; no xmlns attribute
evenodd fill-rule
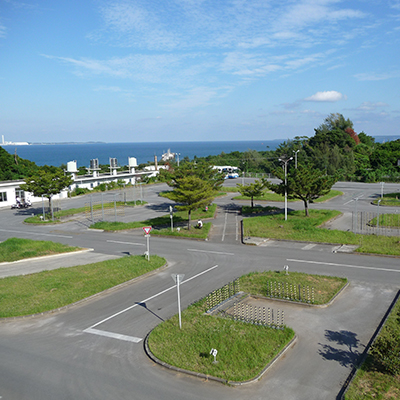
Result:
<svg viewBox="0 0 400 400"><path fill-rule="evenodd" d="M78 167L89 167L93 158L100 164L109 164L110 158L116 158L119 165L127 165L128 157L136 157L138 164L154 161L154 156L161 155L171 149L179 153L179 159L194 156L206 157L222 152L246 150L274 150L283 140L234 141L234 142L157 142L157 143L81 143L81 144L33 144L29 146L4 146L10 154L35 162L37 165L67 164L77 161Z"/></svg>

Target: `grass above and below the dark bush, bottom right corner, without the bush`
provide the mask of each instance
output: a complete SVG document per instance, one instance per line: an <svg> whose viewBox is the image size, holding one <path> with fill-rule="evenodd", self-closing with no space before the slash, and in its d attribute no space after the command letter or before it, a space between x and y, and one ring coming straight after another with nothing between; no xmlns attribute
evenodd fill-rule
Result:
<svg viewBox="0 0 400 400"><path fill-rule="evenodd" d="M394 337L400 334L400 301L397 301L383 329L390 329ZM400 375L385 372L379 362L369 354L357 371L345 395L346 400L400 399Z"/></svg>

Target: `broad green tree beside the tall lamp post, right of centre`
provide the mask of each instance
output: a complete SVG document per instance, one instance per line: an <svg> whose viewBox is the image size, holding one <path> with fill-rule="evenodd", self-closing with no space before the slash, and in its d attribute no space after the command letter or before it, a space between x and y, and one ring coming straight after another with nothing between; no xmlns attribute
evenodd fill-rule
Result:
<svg viewBox="0 0 400 400"><path fill-rule="evenodd" d="M284 195L285 189L288 199L299 199L304 203L306 217L309 216L308 206L314 200L329 193L337 176L325 175L313 166L298 165L297 169L291 168L287 174L287 185L285 187L285 173L281 168L274 171L277 178L282 182L273 184L265 181L265 185L273 192Z"/></svg>

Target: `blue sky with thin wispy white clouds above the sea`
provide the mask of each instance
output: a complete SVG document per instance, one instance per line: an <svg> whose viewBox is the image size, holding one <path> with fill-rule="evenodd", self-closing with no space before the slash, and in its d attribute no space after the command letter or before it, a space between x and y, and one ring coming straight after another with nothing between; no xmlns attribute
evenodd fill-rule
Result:
<svg viewBox="0 0 400 400"><path fill-rule="evenodd" d="M0 0L0 134L399 135L400 0ZM399 136L400 137L400 136Z"/></svg>

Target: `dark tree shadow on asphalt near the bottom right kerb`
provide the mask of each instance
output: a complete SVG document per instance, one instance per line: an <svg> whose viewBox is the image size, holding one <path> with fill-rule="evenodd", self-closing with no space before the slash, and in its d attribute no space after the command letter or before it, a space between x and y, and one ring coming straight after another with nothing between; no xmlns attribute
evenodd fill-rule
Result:
<svg viewBox="0 0 400 400"><path fill-rule="evenodd" d="M329 361L337 361L344 367L353 367L361 355L360 341L357 334L350 331L325 331L325 338L329 342L334 342L336 346L319 343L321 348L318 353ZM362 345L362 347L364 347Z"/></svg>

